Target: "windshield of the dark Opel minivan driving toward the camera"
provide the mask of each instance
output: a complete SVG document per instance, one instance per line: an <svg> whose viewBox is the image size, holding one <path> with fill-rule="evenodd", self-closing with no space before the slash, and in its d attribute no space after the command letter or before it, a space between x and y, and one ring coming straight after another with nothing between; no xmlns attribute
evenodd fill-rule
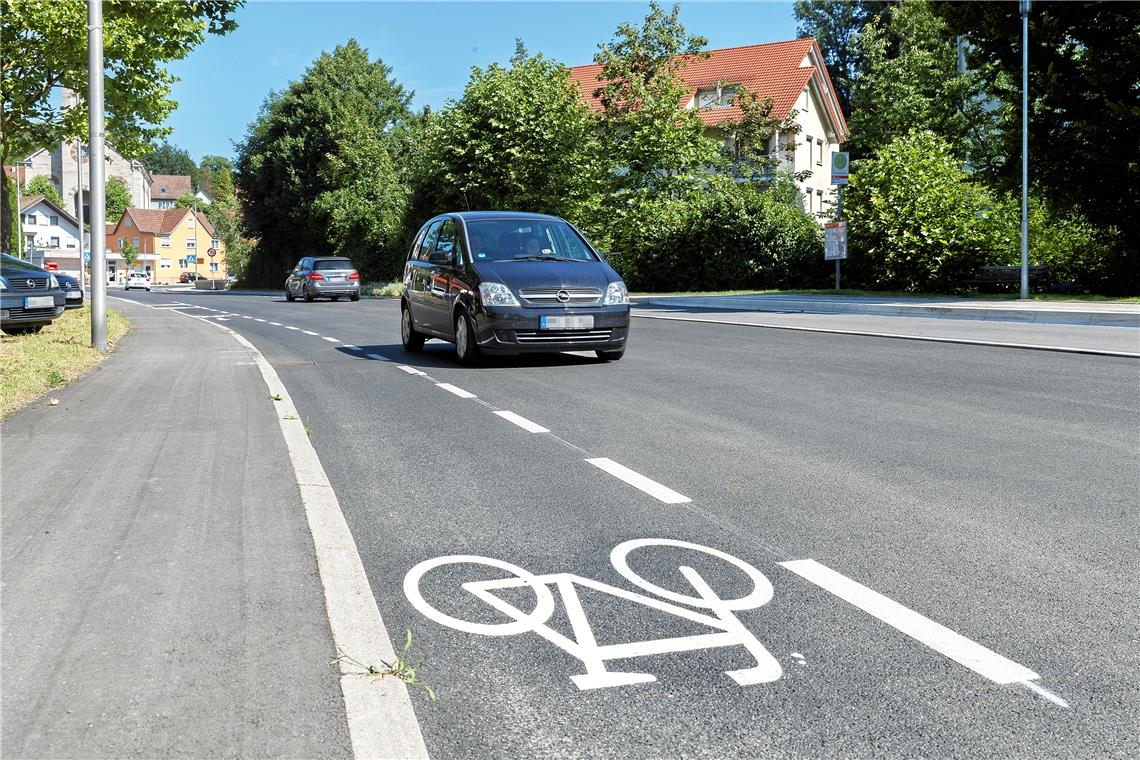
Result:
<svg viewBox="0 0 1140 760"><path fill-rule="evenodd" d="M570 224L547 219L467 222L475 261L597 261Z"/></svg>

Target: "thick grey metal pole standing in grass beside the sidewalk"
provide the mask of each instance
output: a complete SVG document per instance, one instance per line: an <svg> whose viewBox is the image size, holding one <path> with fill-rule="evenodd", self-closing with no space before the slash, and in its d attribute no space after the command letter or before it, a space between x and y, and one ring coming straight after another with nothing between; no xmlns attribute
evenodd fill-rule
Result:
<svg viewBox="0 0 1140 760"><path fill-rule="evenodd" d="M87 106L91 146L91 345L107 352L107 238L104 186L103 0L87 0Z"/></svg>

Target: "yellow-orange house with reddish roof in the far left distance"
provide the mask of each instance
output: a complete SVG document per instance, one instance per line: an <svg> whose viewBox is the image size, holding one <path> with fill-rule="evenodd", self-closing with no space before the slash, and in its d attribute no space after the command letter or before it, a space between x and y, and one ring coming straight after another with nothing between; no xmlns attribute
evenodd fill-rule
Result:
<svg viewBox="0 0 1140 760"><path fill-rule="evenodd" d="M138 251L132 268L150 275L155 285L170 285L186 275L225 280L226 244L205 214L189 209L128 209L107 228L107 278L127 277L120 252L130 243Z"/></svg>

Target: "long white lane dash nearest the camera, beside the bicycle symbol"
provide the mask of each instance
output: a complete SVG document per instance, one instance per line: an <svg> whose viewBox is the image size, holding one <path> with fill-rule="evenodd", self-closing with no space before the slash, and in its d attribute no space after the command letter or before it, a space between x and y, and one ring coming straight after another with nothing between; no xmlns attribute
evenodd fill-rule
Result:
<svg viewBox="0 0 1140 760"><path fill-rule="evenodd" d="M815 559L781 562L780 565L995 684L1020 684L1039 677L1028 668L1007 660L913 610L907 610L878 591L872 591L826 565L821 565Z"/></svg>

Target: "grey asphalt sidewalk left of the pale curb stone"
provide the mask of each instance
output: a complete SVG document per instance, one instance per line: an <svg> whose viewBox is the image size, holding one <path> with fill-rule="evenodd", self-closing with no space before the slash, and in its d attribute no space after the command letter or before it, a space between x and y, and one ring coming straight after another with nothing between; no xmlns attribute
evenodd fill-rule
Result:
<svg viewBox="0 0 1140 760"><path fill-rule="evenodd" d="M3 423L3 757L351 757L258 367L124 305L115 356Z"/></svg>

